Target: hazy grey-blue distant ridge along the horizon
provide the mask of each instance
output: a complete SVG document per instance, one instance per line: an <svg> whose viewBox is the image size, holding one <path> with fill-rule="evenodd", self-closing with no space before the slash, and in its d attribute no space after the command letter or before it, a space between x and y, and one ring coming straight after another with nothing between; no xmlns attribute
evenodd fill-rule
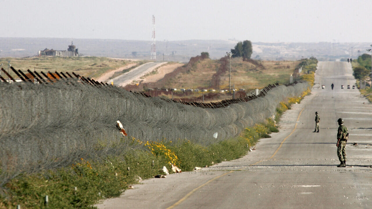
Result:
<svg viewBox="0 0 372 209"><path fill-rule="evenodd" d="M75 38L0 38L0 57L32 57L45 48L66 50L74 42L80 55L115 58L150 59L151 41L120 39L75 39ZM209 52L212 59L224 57L238 40L185 40L157 41L157 60L187 62L191 57ZM365 53L370 43L294 43L253 42L253 59L299 60L317 57L318 60L356 58ZM358 52L359 50L359 52ZM136 52L134 57L132 52Z"/></svg>

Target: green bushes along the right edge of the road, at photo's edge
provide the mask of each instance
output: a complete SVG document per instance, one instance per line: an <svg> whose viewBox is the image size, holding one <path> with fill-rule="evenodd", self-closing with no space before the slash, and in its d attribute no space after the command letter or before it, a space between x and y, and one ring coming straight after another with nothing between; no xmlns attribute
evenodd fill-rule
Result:
<svg viewBox="0 0 372 209"><path fill-rule="evenodd" d="M355 77L357 87L362 95L364 95L369 102L372 102L372 89L371 89L371 55L362 54L357 60L352 61L353 75ZM360 81L369 83L365 89L360 89Z"/></svg>

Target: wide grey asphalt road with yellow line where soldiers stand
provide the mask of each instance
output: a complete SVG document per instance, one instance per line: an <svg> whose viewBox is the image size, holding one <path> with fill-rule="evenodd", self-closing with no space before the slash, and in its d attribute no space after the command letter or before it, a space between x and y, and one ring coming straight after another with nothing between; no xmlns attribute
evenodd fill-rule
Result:
<svg viewBox="0 0 372 209"><path fill-rule="evenodd" d="M319 62L315 83L326 88L293 105L280 132L243 158L142 181L98 208L372 208L372 105L346 89L355 83L347 62ZM346 168L336 167L338 118L349 129Z"/></svg>

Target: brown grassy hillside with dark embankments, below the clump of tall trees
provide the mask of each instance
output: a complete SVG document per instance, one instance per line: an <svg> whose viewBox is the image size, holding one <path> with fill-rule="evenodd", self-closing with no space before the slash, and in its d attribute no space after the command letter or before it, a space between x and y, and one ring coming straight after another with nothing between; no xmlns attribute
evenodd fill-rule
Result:
<svg viewBox="0 0 372 209"><path fill-rule="evenodd" d="M288 83L300 61L243 61L231 59L231 88L256 89L272 83ZM141 91L147 88L175 89L228 89L229 59L219 60L193 57L186 65L178 67L163 79L153 83L128 85L127 90Z"/></svg>

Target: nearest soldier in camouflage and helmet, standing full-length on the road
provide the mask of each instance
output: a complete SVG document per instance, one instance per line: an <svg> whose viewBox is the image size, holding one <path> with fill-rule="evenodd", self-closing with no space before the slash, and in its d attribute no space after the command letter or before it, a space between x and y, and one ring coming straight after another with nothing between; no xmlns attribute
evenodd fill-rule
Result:
<svg viewBox="0 0 372 209"><path fill-rule="evenodd" d="M339 130L337 131L337 156L340 160L340 165L337 165L337 167L346 167L346 142L347 138L349 136L349 133L347 133L346 126L343 125L344 120L342 118L339 118L337 120L339 122Z"/></svg>

